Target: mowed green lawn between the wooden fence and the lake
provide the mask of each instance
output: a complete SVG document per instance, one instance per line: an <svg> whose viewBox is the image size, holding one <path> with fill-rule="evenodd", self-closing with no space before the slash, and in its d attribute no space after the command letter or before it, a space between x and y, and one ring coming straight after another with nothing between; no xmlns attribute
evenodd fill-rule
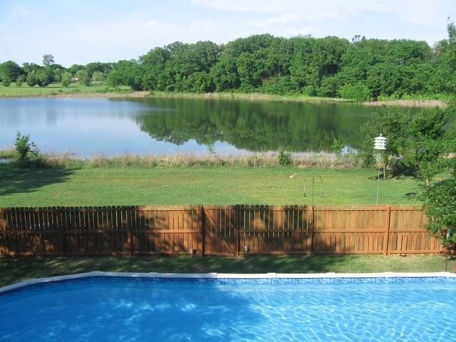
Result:
<svg viewBox="0 0 456 342"><path fill-rule="evenodd" d="M380 181L379 203L418 204L419 185L413 177ZM0 165L0 207L375 204L376 193L377 172L369 169L88 166L21 169Z"/></svg>

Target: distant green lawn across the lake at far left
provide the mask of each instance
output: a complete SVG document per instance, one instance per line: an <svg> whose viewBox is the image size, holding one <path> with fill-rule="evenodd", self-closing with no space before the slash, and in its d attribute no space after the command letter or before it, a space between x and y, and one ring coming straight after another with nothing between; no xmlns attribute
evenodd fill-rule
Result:
<svg viewBox="0 0 456 342"><path fill-rule="evenodd" d="M78 83L71 83L68 87L63 87L61 83L52 83L47 87L29 87L24 83L21 87L11 83L11 86L0 85L0 98L8 97L33 97L33 96L53 96L63 94L91 94L103 93L106 89L104 85L81 86ZM122 87L123 90L130 90L130 87Z"/></svg>

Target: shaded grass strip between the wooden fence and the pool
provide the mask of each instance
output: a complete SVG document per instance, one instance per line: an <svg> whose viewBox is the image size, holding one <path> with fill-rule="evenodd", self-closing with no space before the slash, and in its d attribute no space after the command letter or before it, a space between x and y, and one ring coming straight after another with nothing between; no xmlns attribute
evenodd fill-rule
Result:
<svg viewBox="0 0 456 342"><path fill-rule="evenodd" d="M88 271L165 273L368 273L445 271L445 257L254 256L254 257L56 257L0 258L0 286L43 276ZM448 271L456 271L450 261Z"/></svg>

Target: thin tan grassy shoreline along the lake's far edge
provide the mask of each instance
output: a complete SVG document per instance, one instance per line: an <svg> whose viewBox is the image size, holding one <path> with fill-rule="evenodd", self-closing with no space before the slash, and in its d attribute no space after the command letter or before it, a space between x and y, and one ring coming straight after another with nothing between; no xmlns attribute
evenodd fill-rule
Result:
<svg viewBox="0 0 456 342"><path fill-rule="evenodd" d="M132 91L129 93L32 93L21 95L0 95L0 99L8 98L192 98L202 100L249 100L249 101L274 101L274 102L296 102L296 103L326 103L326 104L348 104L366 105L371 107L396 106L396 107L418 107L433 108L446 107L443 100L380 100L356 102L344 98L318 98L304 95L271 95L262 93L163 93L149 91Z"/></svg>

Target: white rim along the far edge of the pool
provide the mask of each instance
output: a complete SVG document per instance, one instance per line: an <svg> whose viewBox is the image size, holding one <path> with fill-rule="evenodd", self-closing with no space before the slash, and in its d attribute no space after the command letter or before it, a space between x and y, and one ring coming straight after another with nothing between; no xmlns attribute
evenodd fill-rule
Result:
<svg viewBox="0 0 456 342"><path fill-rule="evenodd" d="M415 272L415 273L262 273L262 274L231 274L231 273L134 273L91 271L86 273L68 274L65 276L48 276L20 281L16 284L0 287L0 294L22 287L51 283L55 281L89 278L94 276L111 276L123 278L160 278L160 279L362 279L362 278L456 278L451 272Z"/></svg>

